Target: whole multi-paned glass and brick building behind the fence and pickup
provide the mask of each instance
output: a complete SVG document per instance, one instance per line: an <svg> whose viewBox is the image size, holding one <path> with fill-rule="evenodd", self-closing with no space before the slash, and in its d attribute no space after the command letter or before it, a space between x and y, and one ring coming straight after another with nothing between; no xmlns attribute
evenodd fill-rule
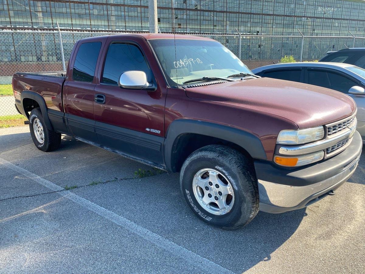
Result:
<svg viewBox="0 0 365 274"><path fill-rule="evenodd" d="M157 6L161 31L210 34L249 68L285 55L318 60L345 45L365 46L352 36L365 36L365 0L157 0ZM0 76L62 70L57 22L67 64L77 40L148 31L148 19L148 0L1 0ZM247 35L230 35L236 28Z"/></svg>

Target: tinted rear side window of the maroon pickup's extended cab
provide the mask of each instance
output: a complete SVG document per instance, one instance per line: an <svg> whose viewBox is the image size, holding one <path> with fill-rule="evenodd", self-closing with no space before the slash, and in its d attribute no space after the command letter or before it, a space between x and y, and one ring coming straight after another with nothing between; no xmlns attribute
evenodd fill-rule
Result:
<svg viewBox="0 0 365 274"><path fill-rule="evenodd" d="M73 65L72 79L74 81L92 82L100 47L101 42L81 44L77 50Z"/></svg>

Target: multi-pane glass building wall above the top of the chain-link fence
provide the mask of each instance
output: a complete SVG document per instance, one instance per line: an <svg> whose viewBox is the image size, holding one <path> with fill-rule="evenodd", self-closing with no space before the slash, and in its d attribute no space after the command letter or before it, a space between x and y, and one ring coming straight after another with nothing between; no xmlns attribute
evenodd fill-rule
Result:
<svg viewBox="0 0 365 274"><path fill-rule="evenodd" d="M336 35L365 29L363 0L158 0L157 6L161 31L297 34L299 28ZM148 30L148 1L0 1L0 28L55 28L57 21L62 29Z"/></svg>

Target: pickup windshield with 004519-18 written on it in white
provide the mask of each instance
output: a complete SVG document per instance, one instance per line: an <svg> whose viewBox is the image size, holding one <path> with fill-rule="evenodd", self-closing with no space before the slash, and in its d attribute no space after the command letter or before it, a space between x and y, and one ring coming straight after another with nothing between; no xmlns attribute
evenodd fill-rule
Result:
<svg viewBox="0 0 365 274"><path fill-rule="evenodd" d="M224 78L240 72L252 74L241 60L216 41L156 39L150 43L170 85L202 77Z"/></svg>

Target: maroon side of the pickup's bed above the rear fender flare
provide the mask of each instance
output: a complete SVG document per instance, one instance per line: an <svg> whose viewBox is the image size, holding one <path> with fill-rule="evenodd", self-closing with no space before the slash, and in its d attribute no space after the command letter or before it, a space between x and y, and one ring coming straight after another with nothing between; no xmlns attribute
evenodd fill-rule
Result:
<svg viewBox="0 0 365 274"><path fill-rule="evenodd" d="M43 97L48 109L63 112L62 88L66 80L65 74L65 71L16 72L12 81L15 100L20 102L23 91L34 91Z"/></svg>

